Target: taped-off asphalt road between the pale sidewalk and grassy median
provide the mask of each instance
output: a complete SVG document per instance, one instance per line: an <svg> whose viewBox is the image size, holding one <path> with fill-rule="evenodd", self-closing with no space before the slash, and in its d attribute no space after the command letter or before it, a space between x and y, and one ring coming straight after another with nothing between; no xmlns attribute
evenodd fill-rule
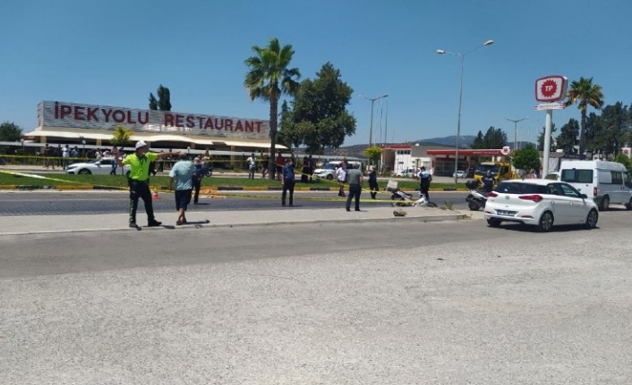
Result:
<svg viewBox="0 0 632 385"><path fill-rule="evenodd" d="M258 210L277 208L280 205L280 191L243 191L224 194L226 198L202 197L201 205L192 210ZM418 197L418 193L414 197ZM454 202L454 208L466 210L466 192L431 192L431 201L443 205ZM157 213L173 213L173 194L161 193L154 200ZM372 202L368 193L363 193L363 205L390 205L389 195L381 194L380 200ZM295 205L303 208L319 209L344 205L345 198L337 197L337 192L295 192ZM143 211L142 203L141 212ZM0 192L0 215L50 215L71 213L125 213L129 207L129 193L125 191L2 191Z"/></svg>

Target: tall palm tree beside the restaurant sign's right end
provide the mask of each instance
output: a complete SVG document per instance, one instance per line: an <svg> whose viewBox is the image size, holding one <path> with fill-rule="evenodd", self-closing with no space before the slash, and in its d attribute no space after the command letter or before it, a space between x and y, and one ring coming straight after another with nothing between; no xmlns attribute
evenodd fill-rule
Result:
<svg viewBox="0 0 632 385"><path fill-rule="evenodd" d="M254 56L245 60L250 71L243 80L251 100L261 98L270 103L270 156L275 159L278 128L278 99L282 94L295 95L296 80L301 78L297 68L288 69L295 51L292 46L281 47L278 38L271 38L268 46L252 46ZM296 80L295 80L296 79ZM274 179L275 163L269 163L269 179Z"/></svg>

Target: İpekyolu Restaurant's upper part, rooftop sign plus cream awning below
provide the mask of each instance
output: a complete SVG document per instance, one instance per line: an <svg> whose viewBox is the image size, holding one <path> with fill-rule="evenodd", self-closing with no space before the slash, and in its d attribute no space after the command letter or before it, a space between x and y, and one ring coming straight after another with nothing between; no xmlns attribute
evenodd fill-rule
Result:
<svg viewBox="0 0 632 385"><path fill-rule="evenodd" d="M117 127L132 130L128 146L144 140L153 150L260 153L269 148L265 120L58 101L39 103L38 127L23 136L42 146L110 147Z"/></svg>

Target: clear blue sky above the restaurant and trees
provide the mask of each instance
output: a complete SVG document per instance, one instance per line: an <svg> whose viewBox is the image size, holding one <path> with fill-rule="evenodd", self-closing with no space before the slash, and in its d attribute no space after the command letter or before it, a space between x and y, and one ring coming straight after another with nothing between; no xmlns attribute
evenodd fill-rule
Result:
<svg viewBox="0 0 632 385"><path fill-rule="evenodd" d="M250 102L243 64L253 45L277 37L295 48L303 79L331 62L354 88L357 119L345 145L455 135L465 52L462 135L490 127L532 140L544 124L534 81L593 77L607 105L632 101L632 3L628 0L4 0L0 2L0 121L37 123L38 102L147 108L159 84L173 110L268 119ZM382 119L380 121L380 115ZM553 113L561 126L576 107ZM530 128L530 129L529 129ZM530 134L530 135L529 135ZM380 141L380 138L378 138Z"/></svg>

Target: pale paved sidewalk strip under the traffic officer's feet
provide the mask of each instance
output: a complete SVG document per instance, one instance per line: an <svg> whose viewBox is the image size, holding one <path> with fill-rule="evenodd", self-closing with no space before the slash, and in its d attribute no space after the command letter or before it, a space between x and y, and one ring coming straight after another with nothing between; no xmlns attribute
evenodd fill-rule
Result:
<svg viewBox="0 0 632 385"><path fill-rule="evenodd" d="M441 210L431 207L401 207L406 216L396 217L399 207L369 207L360 212L347 213L344 208L308 210L299 207L279 207L274 210L187 212L190 224L175 226L175 213L158 213L162 227L145 228L146 216L139 213L142 230L192 230L196 228L222 228L235 226L274 226L301 223L354 223L354 222L439 222L471 218L471 213ZM52 218L51 218L52 217ZM127 213L51 215L47 221L42 216L0 217L0 236L63 233L81 231L129 230ZM209 221L208 223L206 221Z"/></svg>

